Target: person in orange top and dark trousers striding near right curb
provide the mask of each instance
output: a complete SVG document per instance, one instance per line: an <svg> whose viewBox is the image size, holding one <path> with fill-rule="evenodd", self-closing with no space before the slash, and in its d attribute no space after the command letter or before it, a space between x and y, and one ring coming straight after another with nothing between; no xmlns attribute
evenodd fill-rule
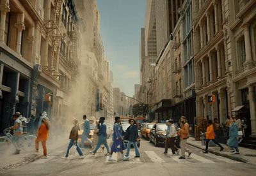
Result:
<svg viewBox="0 0 256 176"><path fill-rule="evenodd" d="M214 128L213 128L212 120L208 121L208 126L207 126L207 129L206 129L206 132L205 132L205 138L206 138L206 145L205 145L204 154L208 153L208 146L209 146L210 140L212 140L212 142L216 143L216 145L218 145L220 147L221 151L224 149L224 147L222 147L220 145L220 143L218 143L215 140L215 134L214 134Z"/></svg>

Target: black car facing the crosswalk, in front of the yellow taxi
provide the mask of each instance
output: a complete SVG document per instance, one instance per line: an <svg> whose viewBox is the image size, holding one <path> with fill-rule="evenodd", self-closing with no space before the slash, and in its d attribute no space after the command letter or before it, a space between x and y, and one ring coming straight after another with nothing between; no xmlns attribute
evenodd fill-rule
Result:
<svg viewBox="0 0 256 176"><path fill-rule="evenodd" d="M165 143L167 126L166 124L154 124L152 129L150 129L149 141L153 142L155 146Z"/></svg>

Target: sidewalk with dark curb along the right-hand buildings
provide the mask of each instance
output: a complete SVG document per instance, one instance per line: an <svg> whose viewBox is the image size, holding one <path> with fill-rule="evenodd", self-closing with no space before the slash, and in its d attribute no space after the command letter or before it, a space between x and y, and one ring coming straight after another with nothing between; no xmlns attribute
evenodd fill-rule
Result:
<svg viewBox="0 0 256 176"><path fill-rule="evenodd" d="M198 149L205 150L205 145L202 145L201 141L196 141L193 137L189 137L187 143L189 145L197 147ZM223 156L225 158L241 161L243 163L250 163L252 165L256 165L256 150L239 147L240 154L234 155L230 153L230 149L227 145L221 145L225 148L223 151L220 151L220 147L209 147L208 151L218 156ZM255 157L252 157L250 155L255 155Z"/></svg>

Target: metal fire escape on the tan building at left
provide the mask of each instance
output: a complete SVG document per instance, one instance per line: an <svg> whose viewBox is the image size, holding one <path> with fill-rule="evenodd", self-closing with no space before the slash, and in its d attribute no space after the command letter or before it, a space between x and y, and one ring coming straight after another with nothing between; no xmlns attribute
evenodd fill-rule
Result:
<svg viewBox="0 0 256 176"><path fill-rule="evenodd" d="M47 34L52 38L52 54L51 61L47 66L43 66L42 70L57 81L60 81L59 73L59 52L60 52L60 41L61 41L61 7L62 0L54 0L54 18L50 21L45 22L47 28Z"/></svg>

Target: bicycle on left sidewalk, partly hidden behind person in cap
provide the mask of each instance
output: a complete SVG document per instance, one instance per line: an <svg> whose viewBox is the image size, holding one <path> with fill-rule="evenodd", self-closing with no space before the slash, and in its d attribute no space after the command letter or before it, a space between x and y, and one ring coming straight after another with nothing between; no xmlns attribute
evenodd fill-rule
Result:
<svg viewBox="0 0 256 176"><path fill-rule="evenodd" d="M6 147L10 147L13 144L12 138L13 135L10 133L10 128L4 129L4 135L6 136L1 136L0 137L0 148L5 149ZM29 135L28 133L23 133L20 136L19 139L19 147L20 149L26 151L26 152L31 152L35 150L35 140L36 136L35 135Z"/></svg>

